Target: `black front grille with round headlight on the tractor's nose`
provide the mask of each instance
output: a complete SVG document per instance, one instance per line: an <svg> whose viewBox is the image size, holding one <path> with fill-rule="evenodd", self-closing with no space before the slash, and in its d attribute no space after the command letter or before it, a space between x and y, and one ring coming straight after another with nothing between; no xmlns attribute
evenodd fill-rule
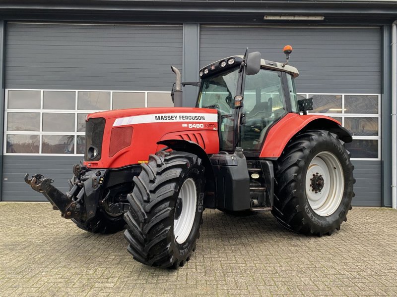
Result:
<svg viewBox="0 0 397 297"><path fill-rule="evenodd" d="M85 123L85 161L98 161L101 159L105 122L104 118L91 118ZM98 154L95 157L91 156L91 158L89 158L90 154L88 150L90 148L91 150L92 148L95 148L98 151Z"/></svg>

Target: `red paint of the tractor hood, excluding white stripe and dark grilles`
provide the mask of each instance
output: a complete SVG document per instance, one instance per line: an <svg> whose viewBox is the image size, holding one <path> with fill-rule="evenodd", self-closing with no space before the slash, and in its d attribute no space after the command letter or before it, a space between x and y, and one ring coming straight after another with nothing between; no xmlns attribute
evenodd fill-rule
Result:
<svg viewBox="0 0 397 297"><path fill-rule="evenodd" d="M214 122L156 122L145 124L132 124L119 127L133 127L131 145L109 157L109 144L113 123L118 118L159 113L202 113L216 114L215 109L190 108L190 107L156 107L133 108L91 113L88 118L103 117L106 119L103 136L102 157L100 161L84 161L88 168L119 168L131 164L147 161L149 154L155 153L162 146L157 142L167 139L186 139L199 144L207 154L219 151L218 124ZM182 124L204 124L204 128L182 127ZM214 130L215 128L215 130Z"/></svg>

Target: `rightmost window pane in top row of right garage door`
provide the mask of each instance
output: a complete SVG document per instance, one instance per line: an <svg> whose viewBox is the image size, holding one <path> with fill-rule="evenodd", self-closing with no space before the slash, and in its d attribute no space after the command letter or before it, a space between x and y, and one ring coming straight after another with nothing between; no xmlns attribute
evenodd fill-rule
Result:
<svg viewBox="0 0 397 297"><path fill-rule="evenodd" d="M378 96L345 95L345 113L378 113Z"/></svg>

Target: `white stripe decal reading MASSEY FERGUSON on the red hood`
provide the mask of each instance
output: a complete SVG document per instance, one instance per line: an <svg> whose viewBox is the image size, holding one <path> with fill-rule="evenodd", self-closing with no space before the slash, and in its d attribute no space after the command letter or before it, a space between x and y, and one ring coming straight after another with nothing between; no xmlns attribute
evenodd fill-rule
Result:
<svg viewBox="0 0 397 297"><path fill-rule="evenodd" d="M132 124L164 123L164 122L211 122L216 123L216 113L157 113L127 116L115 120L113 127Z"/></svg>

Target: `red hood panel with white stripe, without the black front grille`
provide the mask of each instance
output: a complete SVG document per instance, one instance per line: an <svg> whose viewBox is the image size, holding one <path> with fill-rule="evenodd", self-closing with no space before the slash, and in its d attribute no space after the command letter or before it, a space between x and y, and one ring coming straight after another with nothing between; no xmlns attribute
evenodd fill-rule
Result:
<svg viewBox="0 0 397 297"><path fill-rule="evenodd" d="M120 168L147 162L149 154L164 147L157 142L167 139L193 141L207 154L219 151L218 115L214 109L136 108L89 115L89 118L93 117L105 118L106 124L101 159L85 160L84 165L88 168ZM114 153L109 149L112 129L120 127L133 128L131 144L110 157Z"/></svg>

